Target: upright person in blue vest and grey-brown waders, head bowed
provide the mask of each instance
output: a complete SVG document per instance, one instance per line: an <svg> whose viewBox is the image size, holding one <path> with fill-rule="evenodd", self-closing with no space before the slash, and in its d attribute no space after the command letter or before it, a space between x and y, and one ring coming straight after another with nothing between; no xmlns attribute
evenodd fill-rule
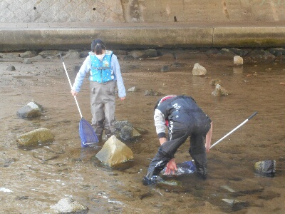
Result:
<svg viewBox="0 0 285 214"><path fill-rule="evenodd" d="M125 86L120 73L117 56L100 39L93 40L91 51L76 75L72 96L77 96L86 73L90 72L90 104L92 126L98 140L102 141L103 131L110 138L115 132L115 86L117 83L120 101L125 100Z"/></svg>

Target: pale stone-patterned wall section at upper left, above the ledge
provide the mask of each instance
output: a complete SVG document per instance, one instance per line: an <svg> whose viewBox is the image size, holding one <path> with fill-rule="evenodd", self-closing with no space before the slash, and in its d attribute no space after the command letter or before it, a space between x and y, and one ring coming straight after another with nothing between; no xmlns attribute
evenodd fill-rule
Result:
<svg viewBox="0 0 285 214"><path fill-rule="evenodd" d="M124 22L120 0L1 0L0 22Z"/></svg>

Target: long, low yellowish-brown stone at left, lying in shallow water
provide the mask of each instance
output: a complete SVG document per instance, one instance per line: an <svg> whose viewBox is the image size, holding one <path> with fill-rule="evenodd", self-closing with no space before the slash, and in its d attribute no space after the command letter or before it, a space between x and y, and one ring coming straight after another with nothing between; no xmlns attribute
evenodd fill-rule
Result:
<svg viewBox="0 0 285 214"><path fill-rule="evenodd" d="M53 133L48 128L38 128L17 138L19 146L35 146L38 143L50 143L53 141Z"/></svg>

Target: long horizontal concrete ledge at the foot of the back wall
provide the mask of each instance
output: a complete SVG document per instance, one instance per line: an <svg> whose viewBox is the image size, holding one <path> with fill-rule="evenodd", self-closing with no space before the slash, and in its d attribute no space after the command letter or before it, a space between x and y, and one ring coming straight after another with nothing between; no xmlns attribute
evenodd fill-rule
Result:
<svg viewBox="0 0 285 214"><path fill-rule="evenodd" d="M285 24L0 24L0 51L90 49L97 38L112 49L274 47L285 45Z"/></svg>

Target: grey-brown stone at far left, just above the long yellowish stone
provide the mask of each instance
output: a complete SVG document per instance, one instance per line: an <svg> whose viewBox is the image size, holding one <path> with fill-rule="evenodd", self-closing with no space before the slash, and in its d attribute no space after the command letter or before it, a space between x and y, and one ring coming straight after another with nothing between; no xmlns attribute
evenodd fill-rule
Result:
<svg viewBox="0 0 285 214"><path fill-rule="evenodd" d="M41 116L42 111L43 111L43 106L32 101L28 103L26 106L20 108L19 111L17 111L17 116L21 118L35 118Z"/></svg>

